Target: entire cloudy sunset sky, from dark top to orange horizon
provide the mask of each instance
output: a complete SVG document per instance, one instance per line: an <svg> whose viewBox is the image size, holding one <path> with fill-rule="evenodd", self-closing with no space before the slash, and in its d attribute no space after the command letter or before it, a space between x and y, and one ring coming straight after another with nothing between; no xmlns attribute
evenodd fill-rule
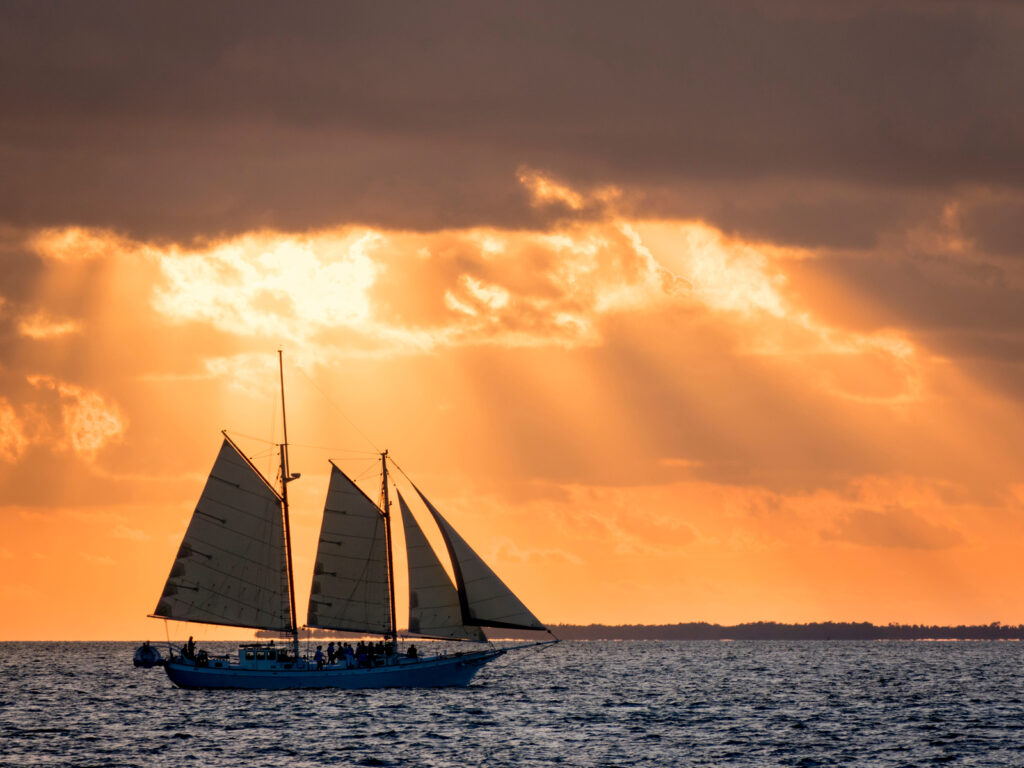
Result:
<svg viewBox="0 0 1024 768"><path fill-rule="evenodd" d="M4 3L0 640L163 636L220 430L274 476L279 348L300 616L328 458L376 496L388 450L547 623L1024 623L1022 37Z"/></svg>

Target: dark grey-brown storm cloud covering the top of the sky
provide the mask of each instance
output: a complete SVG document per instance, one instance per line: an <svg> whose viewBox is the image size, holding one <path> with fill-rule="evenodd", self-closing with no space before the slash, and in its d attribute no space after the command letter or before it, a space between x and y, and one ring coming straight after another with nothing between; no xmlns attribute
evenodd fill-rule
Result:
<svg viewBox="0 0 1024 768"><path fill-rule="evenodd" d="M924 0L5 3L0 215L175 238L543 223L526 164L715 183L726 228L863 243L893 218L882 188L1024 180L1022 28L1014 4ZM765 179L805 184L780 217Z"/></svg>

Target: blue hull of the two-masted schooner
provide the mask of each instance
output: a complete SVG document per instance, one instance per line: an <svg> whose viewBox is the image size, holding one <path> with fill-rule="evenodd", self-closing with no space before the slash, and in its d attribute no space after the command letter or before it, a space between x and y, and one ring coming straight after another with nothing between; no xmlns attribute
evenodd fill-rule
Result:
<svg viewBox="0 0 1024 768"><path fill-rule="evenodd" d="M292 670L246 669L238 665L198 667L175 658L167 662L167 677L179 688L443 688L469 685L473 675L505 649L460 656L400 658L397 664L371 669L315 667Z"/></svg>

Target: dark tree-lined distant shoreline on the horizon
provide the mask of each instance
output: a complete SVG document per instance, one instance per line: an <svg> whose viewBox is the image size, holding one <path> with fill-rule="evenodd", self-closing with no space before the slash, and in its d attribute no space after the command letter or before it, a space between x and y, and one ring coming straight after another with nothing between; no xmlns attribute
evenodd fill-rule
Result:
<svg viewBox="0 0 1024 768"><path fill-rule="evenodd" d="M551 631L562 640L1024 640L1024 625L874 625L868 622L815 622L779 624L751 622L737 625L708 624L556 624ZM488 639L541 639L547 633L485 630ZM256 633L276 637L275 633ZM400 633L399 633L400 634ZM353 637L352 633L316 632L312 638ZM303 633L303 637L307 637Z"/></svg>

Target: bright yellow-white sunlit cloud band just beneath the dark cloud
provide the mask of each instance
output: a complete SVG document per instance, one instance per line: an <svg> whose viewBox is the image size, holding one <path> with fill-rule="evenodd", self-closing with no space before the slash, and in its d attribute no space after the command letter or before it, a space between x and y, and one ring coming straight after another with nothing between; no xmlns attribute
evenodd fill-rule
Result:
<svg viewBox="0 0 1024 768"><path fill-rule="evenodd" d="M932 361L904 332L829 325L788 293L786 265L812 251L700 221L624 217L613 190L577 191L539 171L520 171L520 181L538 201L593 215L543 231L343 227L158 247L73 227L32 242L60 261L153 263L162 280L151 304L165 323L288 343L302 364L466 346L597 347L617 316L682 310L731 328L735 353L774 357L835 397L902 407L925 396ZM40 315L23 332L45 338L80 330L74 324ZM205 372L155 376L230 372L245 382L261 364L238 354L207 360Z"/></svg>

